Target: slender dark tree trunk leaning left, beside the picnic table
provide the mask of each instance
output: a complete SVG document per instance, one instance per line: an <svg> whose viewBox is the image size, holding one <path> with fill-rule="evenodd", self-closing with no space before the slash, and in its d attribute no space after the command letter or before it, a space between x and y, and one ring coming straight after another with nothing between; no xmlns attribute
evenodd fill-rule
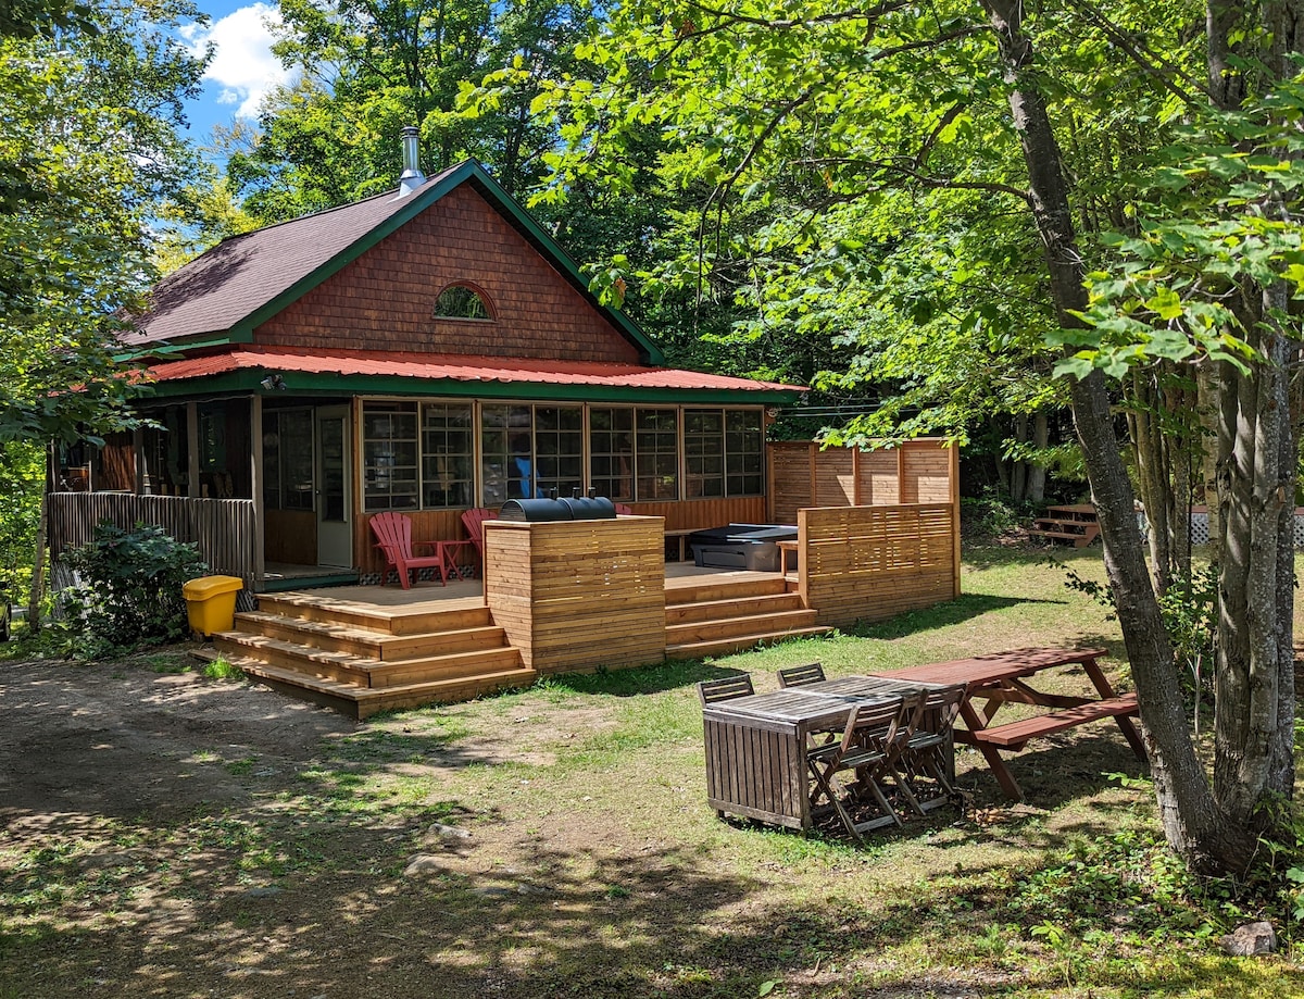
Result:
<svg viewBox="0 0 1304 999"><path fill-rule="evenodd" d="M1068 186L1043 93L1033 72L1020 0L983 0L996 31L1009 106L1028 166L1033 216L1046 246L1051 296L1059 321L1080 327L1086 306L1082 254L1076 245ZM1172 649L1146 571L1104 376L1094 370L1071 386L1073 419L1104 540L1104 567L1118 606L1137 687L1159 814L1168 842L1197 869L1248 863L1254 837L1226 820L1187 728Z"/></svg>

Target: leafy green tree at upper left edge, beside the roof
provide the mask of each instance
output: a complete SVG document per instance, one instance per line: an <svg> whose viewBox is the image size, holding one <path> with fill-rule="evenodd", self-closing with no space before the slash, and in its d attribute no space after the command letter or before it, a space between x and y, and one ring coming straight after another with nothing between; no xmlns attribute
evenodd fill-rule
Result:
<svg viewBox="0 0 1304 999"><path fill-rule="evenodd" d="M0 441L129 423L116 334L153 274L151 209L190 160L176 129L203 60L170 29L196 9L73 10L89 20L0 38Z"/></svg>

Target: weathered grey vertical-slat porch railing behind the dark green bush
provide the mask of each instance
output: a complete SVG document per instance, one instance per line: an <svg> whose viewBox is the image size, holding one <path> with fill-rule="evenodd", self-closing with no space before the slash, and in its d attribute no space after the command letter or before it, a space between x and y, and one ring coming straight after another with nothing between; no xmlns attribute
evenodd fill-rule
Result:
<svg viewBox="0 0 1304 999"><path fill-rule="evenodd" d="M156 524L177 541L196 543L211 573L240 576L250 589L258 579L253 500L51 493L51 558L57 562L65 549L91 541L100 520L110 520L124 529L138 523Z"/></svg>

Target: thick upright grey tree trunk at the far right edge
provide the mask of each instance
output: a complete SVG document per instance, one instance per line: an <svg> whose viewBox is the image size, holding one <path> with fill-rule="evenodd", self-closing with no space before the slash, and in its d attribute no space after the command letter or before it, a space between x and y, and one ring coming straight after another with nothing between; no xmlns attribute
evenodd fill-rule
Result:
<svg viewBox="0 0 1304 999"><path fill-rule="evenodd" d="M1294 72L1288 53L1304 43L1304 0L1209 0L1206 23L1210 94L1218 108L1231 111ZM1287 216L1279 201L1262 209L1270 218ZM1295 783L1296 450L1287 372L1297 343L1281 326L1288 304L1283 282L1247 282L1235 312L1258 355L1247 373L1231 365L1219 372L1214 794L1232 822L1254 831L1270 822L1264 801L1288 797Z"/></svg>

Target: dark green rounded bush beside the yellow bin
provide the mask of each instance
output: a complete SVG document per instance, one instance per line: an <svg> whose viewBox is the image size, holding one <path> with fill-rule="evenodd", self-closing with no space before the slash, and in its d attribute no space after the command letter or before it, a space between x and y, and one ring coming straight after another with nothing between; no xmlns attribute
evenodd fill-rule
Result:
<svg viewBox="0 0 1304 999"><path fill-rule="evenodd" d="M156 646L189 634L181 584L209 570L196 545L160 527L124 531L104 520L95 540L69 549L65 559L80 576L64 591L65 613L104 651Z"/></svg>

